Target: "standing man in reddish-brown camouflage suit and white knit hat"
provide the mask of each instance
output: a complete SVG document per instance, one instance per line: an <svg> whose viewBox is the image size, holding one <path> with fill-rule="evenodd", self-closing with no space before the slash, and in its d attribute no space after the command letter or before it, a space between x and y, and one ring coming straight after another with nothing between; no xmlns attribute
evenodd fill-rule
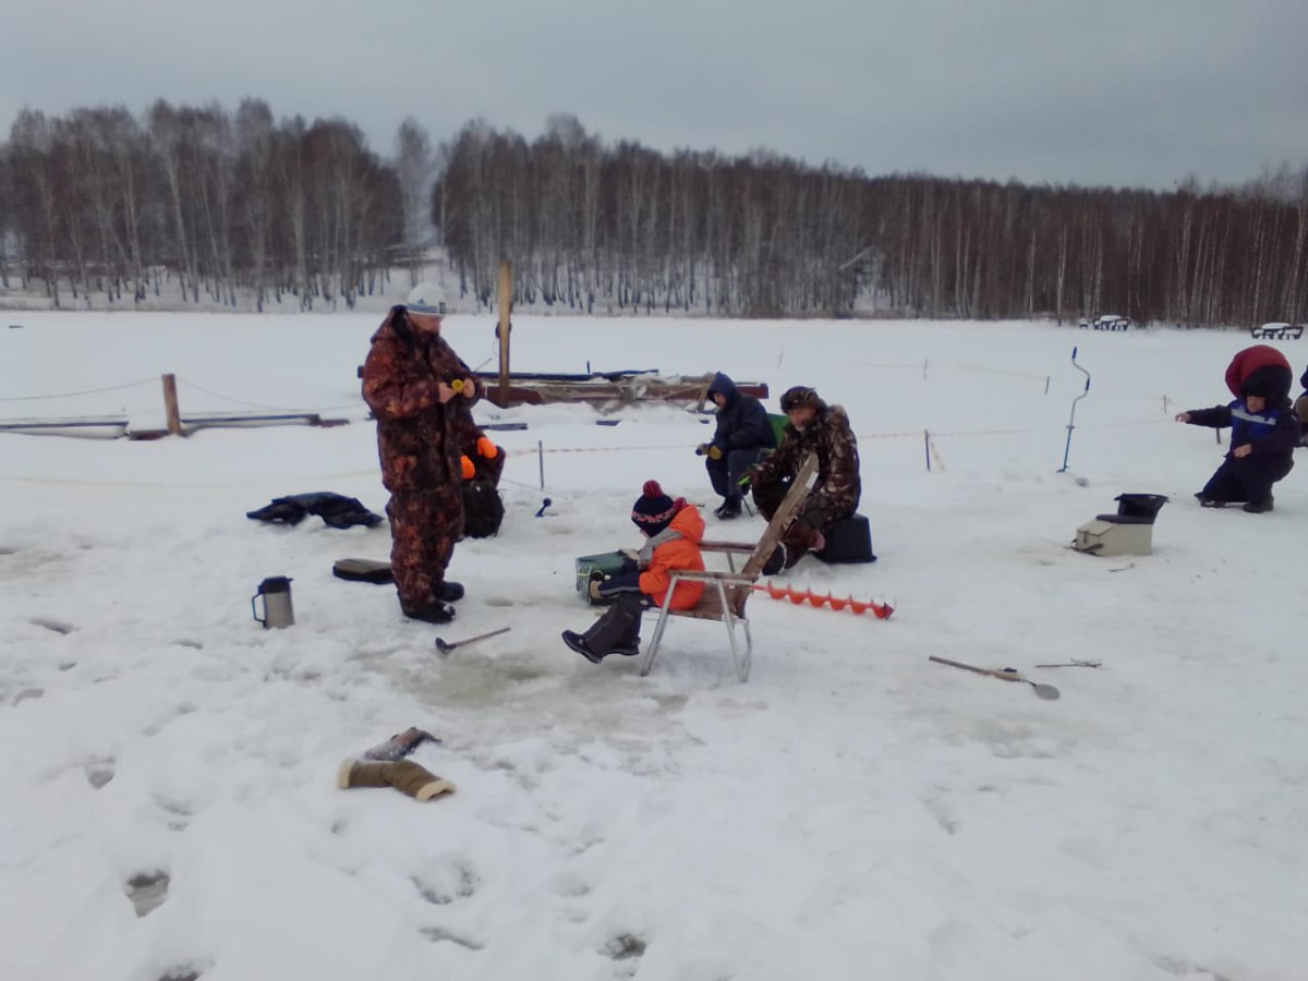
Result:
<svg viewBox="0 0 1308 981"><path fill-rule="evenodd" d="M391 309L364 362L364 400L377 417L382 484L391 492L386 515L400 610L436 624L453 620L451 604L463 596L445 570L463 536L466 409L480 395L472 371L441 336L443 314L439 286L419 285Z"/></svg>

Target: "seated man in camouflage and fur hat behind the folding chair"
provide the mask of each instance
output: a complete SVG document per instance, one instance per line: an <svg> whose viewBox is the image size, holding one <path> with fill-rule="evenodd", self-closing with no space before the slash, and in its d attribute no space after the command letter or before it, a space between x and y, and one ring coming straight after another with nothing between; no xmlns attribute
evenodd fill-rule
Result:
<svg viewBox="0 0 1308 981"><path fill-rule="evenodd" d="M759 513L772 521L790 484L810 453L818 454L818 480L791 522L781 544L763 566L766 576L789 569L806 552L820 552L825 535L841 518L858 510L862 484L858 479L858 439L849 416L840 405L828 405L812 388L797 385L781 396L786 424L777 451L749 476Z"/></svg>

